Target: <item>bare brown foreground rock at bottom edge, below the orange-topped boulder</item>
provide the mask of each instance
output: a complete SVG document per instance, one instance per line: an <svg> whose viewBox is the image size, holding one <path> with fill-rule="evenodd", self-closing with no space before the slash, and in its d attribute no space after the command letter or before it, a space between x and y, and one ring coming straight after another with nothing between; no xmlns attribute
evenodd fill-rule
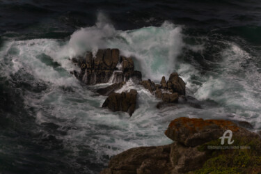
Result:
<svg viewBox="0 0 261 174"><path fill-rule="evenodd" d="M126 150L109 161L100 174L187 173L203 166L206 153L178 143Z"/></svg>

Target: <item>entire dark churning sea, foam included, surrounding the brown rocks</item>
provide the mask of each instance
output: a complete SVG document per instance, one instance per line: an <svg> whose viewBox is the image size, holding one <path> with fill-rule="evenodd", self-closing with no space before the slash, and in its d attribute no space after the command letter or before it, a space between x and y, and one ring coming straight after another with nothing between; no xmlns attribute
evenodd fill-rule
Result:
<svg viewBox="0 0 261 174"><path fill-rule="evenodd" d="M158 110L132 81L139 108L75 79L69 58L118 47L143 79L178 72L203 109ZM141 145L164 145L180 116L246 120L261 129L261 2L0 0L0 173L99 173Z"/></svg>

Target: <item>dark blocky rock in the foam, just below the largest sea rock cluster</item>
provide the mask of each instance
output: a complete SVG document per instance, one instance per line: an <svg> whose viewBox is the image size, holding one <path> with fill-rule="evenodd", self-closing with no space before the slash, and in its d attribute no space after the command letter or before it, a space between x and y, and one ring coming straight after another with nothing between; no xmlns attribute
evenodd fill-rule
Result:
<svg viewBox="0 0 261 174"><path fill-rule="evenodd" d="M102 104L102 107L107 107L113 112L124 111L132 116L136 109L137 94L136 90L130 90L129 93L111 93Z"/></svg>

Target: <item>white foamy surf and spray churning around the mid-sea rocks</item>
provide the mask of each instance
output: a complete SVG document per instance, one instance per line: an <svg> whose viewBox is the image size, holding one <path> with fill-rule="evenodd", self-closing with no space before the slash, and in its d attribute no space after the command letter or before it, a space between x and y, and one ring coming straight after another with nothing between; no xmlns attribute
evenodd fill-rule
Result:
<svg viewBox="0 0 261 174"><path fill-rule="evenodd" d="M223 41L226 48L219 48L214 55L216 60L205 60L216 69L204 70L200 63L186 61L184 52L204 55L207 40L191 44L184 40L191 37L183 33L185 29L186 26L164 22L159 27L118 31L100 14L95 26L75 31L70 40L5 42L0 52L0 72L8 79L17 77L17 81L26 81L31 86L46 86L39 93L26 89L23 92L25 109L35 111L34 121L38 125L35 132L52 134L61 140L63 150L68 151L64 160L75 167L84 166L86 173L95 173L97 166L105 166L110 157L123 150L171 143L164 130L171 120L181 116L223 119L233 116L261 129L261 76L255 57L235 42ZM99 48L118 48L120 54L133 56L143 79L159 82L163 75L168 79L171 72L178 72L187 84L187 94L200 100L203 109L177 104L159 110L155 107L159 100L132 81L117 91L131 88L138 91L139 107L131 118L127 113L102 109L106 97L97 95L93 89L108 84L84 86L70 74L77 67L69 60L86 51L95 53ZM42 128L46 123L56 128L47 131ZM77 159L87 157L86 164L81 166Z"/></svg>

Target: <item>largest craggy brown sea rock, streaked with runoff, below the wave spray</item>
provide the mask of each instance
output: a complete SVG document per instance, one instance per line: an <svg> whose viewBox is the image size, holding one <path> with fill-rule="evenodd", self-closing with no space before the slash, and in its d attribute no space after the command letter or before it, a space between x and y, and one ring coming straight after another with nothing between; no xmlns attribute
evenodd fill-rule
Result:
<svg viewBox="0 0 261 174"><path fill-rule="evenodd" d="M72 74L87 85L108 83L112 76L115 83L130 78L141 81L141 72L134 70L132 58L120 56L119 49L99 49L96 55L87 52L84 57L72 58L72 62L81 68L81 72Z"/></svg>

